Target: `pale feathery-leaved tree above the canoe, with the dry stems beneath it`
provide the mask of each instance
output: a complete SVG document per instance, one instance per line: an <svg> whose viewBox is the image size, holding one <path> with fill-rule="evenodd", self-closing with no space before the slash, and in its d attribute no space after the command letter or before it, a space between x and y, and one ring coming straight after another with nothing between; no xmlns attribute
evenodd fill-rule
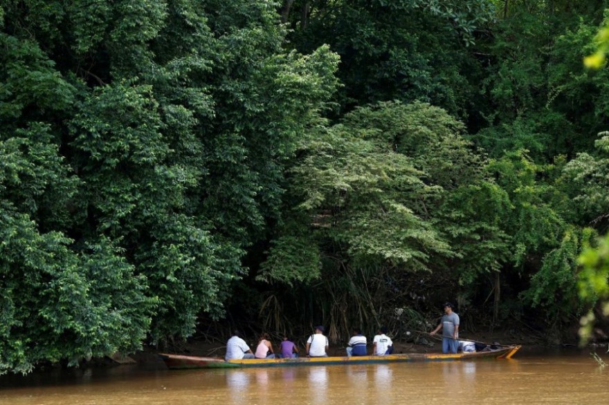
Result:
<svg viewBox="0 0 609 405"><path fill-rule="evenodd" d="M428 272L438 257L453 254L422 214L441 189L427 185L412 158L395 151L373 122L362 124L370 111L354 111L302 140L289 170L287 208L258 274L293 285L286 305L315 296L303 321L325 314L334 338L353 323L380 321L390 309L383 304L388 293L407 293L395 290L397 279Z"/></svg>

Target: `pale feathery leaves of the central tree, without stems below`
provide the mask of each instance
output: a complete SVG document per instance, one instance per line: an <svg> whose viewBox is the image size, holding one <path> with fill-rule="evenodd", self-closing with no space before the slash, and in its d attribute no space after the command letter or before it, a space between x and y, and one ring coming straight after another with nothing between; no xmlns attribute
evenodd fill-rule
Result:
<svg viewBox="0 0 609 405"><path fill-rule="evenodd" d="M409 107L381 104L374 110L361 109L343 124L314 131L303 140L290 170L287 202L293 214L269 251L266 272L272 270L280 275L276 279L288 283L310 282L318 255L332 257L342 266L374 263L409 272L428 270L432 257L451 255L431 223L417 214L421 201L437 189L424 184L424 173L410 158L392 151L386 138L391 132L380 131L384 126L408 131L401 122L388 119L392 109ZM378 115L369 119L372 111ZM308 241L302 248L311 267L290 267L285 258L296 256L294 241L302 239Z"/></svg>

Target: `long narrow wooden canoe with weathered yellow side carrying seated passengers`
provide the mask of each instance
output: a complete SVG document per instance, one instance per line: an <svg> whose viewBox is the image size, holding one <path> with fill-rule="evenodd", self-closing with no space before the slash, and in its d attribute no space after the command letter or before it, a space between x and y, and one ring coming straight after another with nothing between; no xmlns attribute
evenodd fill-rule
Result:
<svg viewBox="0 0 609 405"><path fill-rule="evenodd" d="M244 367L277 367L277 366L325 366L332 364L376 364L403 361L455 361L475 359L509 359L520 349L520 346L502 346L496 350L473 353L443 355L441 353L410 353L386 356L354 357L298 357L296 359L242 359L224 360L216 357L194 357L160 353L167 368L244 368Z"/></svg>

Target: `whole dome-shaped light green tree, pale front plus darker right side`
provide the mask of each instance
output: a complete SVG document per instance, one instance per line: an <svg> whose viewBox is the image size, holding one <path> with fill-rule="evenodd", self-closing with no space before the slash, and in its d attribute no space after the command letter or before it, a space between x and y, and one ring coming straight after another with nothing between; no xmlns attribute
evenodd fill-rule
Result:
<svg viewBox="0 0 609 405"><path fill-rule="evenodd" d="M442 109L390 102L307 138L259 279L310 285L320 305L340 303L322 312L346 332L349 321L387 319L388 296L395 306L427 294L411 290L421 274L448 272L444 288L458 294L501 270L513 207L462 131Z"/></svg>

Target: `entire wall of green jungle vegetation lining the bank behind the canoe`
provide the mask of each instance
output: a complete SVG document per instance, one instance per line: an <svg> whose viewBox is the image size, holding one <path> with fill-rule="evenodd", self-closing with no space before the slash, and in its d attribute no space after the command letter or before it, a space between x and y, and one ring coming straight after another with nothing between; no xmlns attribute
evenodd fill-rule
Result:
<svg viewBox="0 0 609 405"><path fill-rule="evenodd" d="M607 315L607 10L0 0L0 373Z"/></svg>

